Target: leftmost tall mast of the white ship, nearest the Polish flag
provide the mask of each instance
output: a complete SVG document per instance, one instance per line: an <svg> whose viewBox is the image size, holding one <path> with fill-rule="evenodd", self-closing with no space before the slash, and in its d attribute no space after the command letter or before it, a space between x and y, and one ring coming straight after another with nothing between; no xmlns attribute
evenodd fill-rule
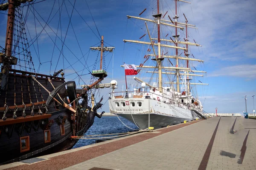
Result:
<svg viewBox="0 0 256 170"><path fill-rule="evenodd" d="M161 48L160 48L160 17L159 13L159 0L157 0L157 46L158 46L158 58L161 58ZM162 68L161 68L161 60L157 59L158 62L158 90L162 92Z"/></svg>

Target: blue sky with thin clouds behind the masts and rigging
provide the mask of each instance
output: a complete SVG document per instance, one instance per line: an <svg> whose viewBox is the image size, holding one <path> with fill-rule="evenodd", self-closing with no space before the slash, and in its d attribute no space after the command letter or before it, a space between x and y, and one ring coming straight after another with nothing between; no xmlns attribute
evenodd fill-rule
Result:
<svg viewBox="0 0 256 170"><path fill-rule="evenodd" d="M60 0L60 4L62 0ZM155 1L155 0L154 0ZM90 12L93 15L96 26L99 30L100 35L104 35L104 40L106 43L115 46L114 51L114 79L119 82L119 89L122 90L122 85L125 84L124 81L124 70L120 67L123 62L129 64L139 65L144 61L143 56L146 54L148 47L143 45L123 43L123 39L128 40L140 40L139 38L144 35L145 23L144 21L127 19L126 15L139 16L145 8L147 10L141 15L141 17L152 18L151 15L154 13L152 7L155 2L153 0L99 0L99 1L87 1L90 7ZM204 104L204 110L206 112L215 112L215 107L218 107L218 112L226 113L236 113L245 111L244 96L247 95L247 110L252 112L253 109L253 98L252 95L256 95L256 21L255 21L255 6L256 1L254 0L189 0L192 4L178 3L179 11L179 22L184 22L183 13L186 15L190 24L195 24L198 30L189 29L189 42L193 42L193 39L202 47L191 47L189 52L192 53L195 58L204 60L204 63L193 62L192 66L195 66L198 70L204 70L207 74L204 74L204 78L195 78L195 82L198 80L203 83L208 83L209 86L197 86L197 93L201 101ZM74 4L74 1L70 2ZM161 1L161 12L163 14L168 11L167 15L173 17L175 12L174 0L162 0ZM41 3L34 5L36 11L41 14L44 20L49 17L50 11L52 9L54 1L46 0ZM72 12L72 6L68 0L65 1L67 6L67 11L69 15ZM99 45L99 35L96 30L96 26L92 20L90 12L87 8L85 0L76 0L75 9L79 11L79 14L87 22L87 24L93 29L87 26L87 24L81 19L76 10L73 11L72 15L72 26L76 32L76 37L79 41L81 49L78 47L76 42L76 37L73 33L73 29L70 25L69 31L67 32L67 37L65 44L69 49L76 55L77 58L81 58L80 62L73 65L74 69L78 72L84 69L85 61L87 61L86 66L91 66L94 64L98 52L90 51L89 47L94 44ZM24 8L26 10L26 7ZM61 26L58 29L58 0L55 0L55 6L53 7L51 17L57 12L55 17L49 23L51 29L47 26L45 30L50 35L50 37L55 40L55 34L58 31L58 36L64 40L67 31L67 25L69 17L67 16L67 11L65 5L63 5L61 11ZM27 27L31 34L31 37L35 37L35 22L37 26L37 32L42 30L44 26L44 21L36 13L36 17L32 15L33 8L31 8ZM1 28L6 26L6 14L5 12L0 13ZM64 15L63 15L64 14ZM165 19L167 20L167 15ZM153 31L153 25L148 23L149 29ZM27 29L26 27L26 29ZM163 28L162 37L165 37L166 33L172 35L174 29ZM43 74L49 74L50 64L48 61L51 60L52 50L54 44L52 40L49 39L45 31L41 33L38 38L38 46L40 53L40 61L43 63L40 66L40 72ZM0 46L4 46L4 36L6 32L5 29L0 30ZM181 37L184 35L180 32ZM182 37L183 38L183 37ZM28 39L30 39L28 37ZM141 40L148 41L148 37L145 36ZM35 49L37 49L37 43L35 42ZM61 41L57 39L56 44L61 49ZM106 46L110 46L110 45ZM35 53L33 46L30 47L32 52L33 61L35 63L35 69L38 69L39 60ZM68 59L64 59L60 55L60 52L55 48L52 59L51 74L56 67L56 63L60 56L59 64L56 69L65 70L66 80L75 79L78 84L78 78L76 74L69 75L73 73L73 69L69 66L69 63L74 63L77 61L76 57L69 51L65 46L63 47L64 56ZM169 54L172 55L174 50L171 50ZM181 53L181 52L179 52ZM106 67L108 66L109 77L105 79L104 83L109 83L112 79L112 54L106 53ZM170 54L170 55L171 55ZM84 57L82 57L84 55ZM88 57L88 59L87 59ZM99 61L99 60L98 60ZM48 63L44 63L48 62ZM173 63L175 63L173 61ZM182 62L181 62L182 63ZM150 63L148 63L150 64ZM99 64L97 63L97 67ZM68 67L68 68L67 68ZM93 69L89 67L89 69ZM79 74L84 74L82 79L85 83L90 82L89 72L85 69L84 72L79 72ZM141 73L139 77L144 78L144 80L149 80L150 74L146 75ZM132 77L128 77L128 85L134 84ZM156 80L153 77L152 82ZM82 83L80 83L82 84ZM135 86L135 84L134 84ZM130 86L131 89L131 86ZM101 95L105 96L105 100L108 98L109 89L104 89ZM108 103L102 107L102 109L108 111Z"/></svg>

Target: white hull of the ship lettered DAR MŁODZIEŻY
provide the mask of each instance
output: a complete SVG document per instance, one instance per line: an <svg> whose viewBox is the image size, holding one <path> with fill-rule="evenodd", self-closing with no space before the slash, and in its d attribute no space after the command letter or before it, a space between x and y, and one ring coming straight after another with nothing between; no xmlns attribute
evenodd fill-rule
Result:
<svg viewBox="0 0 256 170"><path fill-rule="evenodd" d="M118 107L118 104L119 107ZM122 105L122 102L125 104ZM131 104L134 102L134 107ZM141 105L138 106L137 103ZM128 104L128 105L127 105ZM193 121L199 118L189 109L153 99L121 98L109 99L110 112L121 116L140 129L154 127L158 129L168 125L180 124L184 121ZM148 124L149 120L149 124Z"/></svg>

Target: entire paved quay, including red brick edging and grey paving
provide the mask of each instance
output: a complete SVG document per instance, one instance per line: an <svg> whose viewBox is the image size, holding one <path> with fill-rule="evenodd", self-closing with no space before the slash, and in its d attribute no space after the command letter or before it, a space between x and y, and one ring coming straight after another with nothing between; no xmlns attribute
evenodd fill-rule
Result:
<svg viewBox="0 0 256 170"><path fill-rule="evenodd" d="M232 129L232 130L231 130ZM13 170L256 170L256 120L214 117L41 156Z"/></svg>

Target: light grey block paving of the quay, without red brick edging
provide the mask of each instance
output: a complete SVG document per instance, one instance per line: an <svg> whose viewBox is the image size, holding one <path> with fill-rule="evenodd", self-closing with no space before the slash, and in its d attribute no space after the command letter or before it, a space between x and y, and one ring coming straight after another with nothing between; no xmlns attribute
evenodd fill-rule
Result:
<svg viewBox="0 0 256 170"><path fill-rule="evenodd" d="M112 153L84 161L65 170L86 170L102 167L120 170L197 170L220 117L210 118L179 130L116 150ZM207 164L209 170L256 170L256 121L221 117L215 141ZM247 150L243 164L239 164L241 147L249 129ZM230 158L235 154L235 158Z"/></svg>

